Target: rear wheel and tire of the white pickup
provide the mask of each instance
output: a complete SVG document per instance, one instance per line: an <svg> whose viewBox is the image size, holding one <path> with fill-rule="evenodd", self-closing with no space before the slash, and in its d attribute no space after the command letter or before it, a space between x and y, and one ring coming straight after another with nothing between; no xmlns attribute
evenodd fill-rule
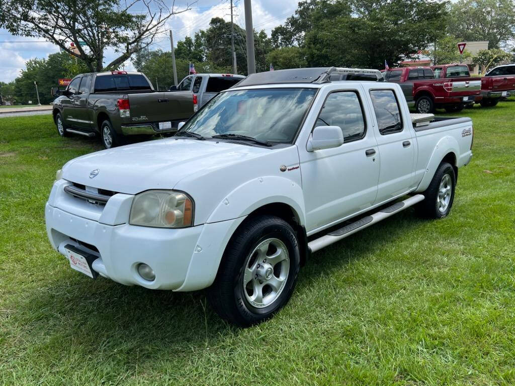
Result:
<svg viewBox="0 0 515 386"><path fill-rule="evenodd" d="M443 193L443 190L445 192ZM427 189L423 192L425 199L416 209L420 216L439 219L451 211L456 191L456 173L451 164L442 162Z"/></svg>

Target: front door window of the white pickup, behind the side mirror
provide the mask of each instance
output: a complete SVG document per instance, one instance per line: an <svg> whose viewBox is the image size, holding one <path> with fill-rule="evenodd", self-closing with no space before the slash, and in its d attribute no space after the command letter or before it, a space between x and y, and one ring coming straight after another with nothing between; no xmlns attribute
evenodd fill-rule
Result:
<svg viewBox="0 0 515 386"><path fill-rule="evenodd" d="M365 118L357 94L340 91L329 94L318 115L315 126L339 126L345 142L365 136Z"/></svg>

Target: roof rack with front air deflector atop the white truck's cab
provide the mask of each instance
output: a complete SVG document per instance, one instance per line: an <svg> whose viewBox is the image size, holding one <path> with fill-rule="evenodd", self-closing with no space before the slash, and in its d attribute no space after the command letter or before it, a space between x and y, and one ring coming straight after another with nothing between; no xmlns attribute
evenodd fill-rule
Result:
<svg viewBox="0 0 515 386"><path fill-rule="evenodd" d="M375 75L377 81L383 80L383 74L378 69L344 68L344 67L312 67L279 69L251 74L236 86L255 86L261 84L281 83L314 83L330 82L331 75Z"/></svg>

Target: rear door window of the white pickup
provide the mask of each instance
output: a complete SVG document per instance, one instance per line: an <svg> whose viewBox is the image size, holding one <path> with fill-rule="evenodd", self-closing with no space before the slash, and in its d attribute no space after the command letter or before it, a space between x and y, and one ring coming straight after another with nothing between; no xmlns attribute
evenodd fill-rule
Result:
<svg viewBox="0 0 515 386"><path fill-rule="evenodd" d="M371 90L370 97L381 135L400 133L403 130L399 102L393 90Z"/></svg>

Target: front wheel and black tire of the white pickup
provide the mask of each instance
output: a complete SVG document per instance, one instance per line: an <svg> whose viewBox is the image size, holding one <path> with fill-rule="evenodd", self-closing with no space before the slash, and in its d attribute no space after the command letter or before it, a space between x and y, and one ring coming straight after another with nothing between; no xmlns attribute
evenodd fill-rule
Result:
<svg viewBox="0 0 515 386"><path fill-rule="evenodd" d="M208 301L239 327L261 323L288 302L299 267L299 243L290 224L275 216L247 219L227 245Z"/></svg>

